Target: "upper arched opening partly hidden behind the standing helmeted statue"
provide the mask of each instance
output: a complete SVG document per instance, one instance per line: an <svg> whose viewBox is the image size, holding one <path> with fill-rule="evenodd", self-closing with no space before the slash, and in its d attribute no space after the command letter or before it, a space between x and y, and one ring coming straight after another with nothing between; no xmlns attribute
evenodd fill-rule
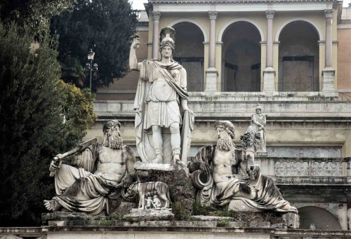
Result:
<svg viewBox="0 0 351 239"><path fill-rule="evenodd" d="M176 51L173 59L187 71L187 90L204 91L204 34L192 22L173 25Z"/></svg>

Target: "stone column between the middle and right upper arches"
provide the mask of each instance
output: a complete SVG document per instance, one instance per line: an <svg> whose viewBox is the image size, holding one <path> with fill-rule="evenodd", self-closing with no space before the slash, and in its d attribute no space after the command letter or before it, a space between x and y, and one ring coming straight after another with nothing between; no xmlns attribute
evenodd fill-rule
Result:
<svg viewBox="0 0 351 239"><path fill-rule="evenodd" d="M273 93L275 70L273 68L273 18L274 11L265 11L267 18L266 62L263 71L263 92Z"/></svg>

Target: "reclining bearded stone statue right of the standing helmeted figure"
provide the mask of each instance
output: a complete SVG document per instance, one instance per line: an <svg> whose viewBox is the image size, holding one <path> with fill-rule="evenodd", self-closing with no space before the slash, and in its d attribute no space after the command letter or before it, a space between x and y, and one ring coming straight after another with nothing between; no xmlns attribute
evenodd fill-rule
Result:
<svg viewBox="0 0 351 239"><path fill-rule="evenodd" d="M197 187L197 203L228 206L228 210L233 211L297 213L296 208L284 200L273 179L262 175L259 165L253 164L253 153L244 153L234 145L234 125L230 121L218 121L215 127L217 144L202 147L188 163L192 181ZM244 138L253 143L255 134L252 128L250 132L246 132ZM252 150L254 147L250 146Z"/></svg>

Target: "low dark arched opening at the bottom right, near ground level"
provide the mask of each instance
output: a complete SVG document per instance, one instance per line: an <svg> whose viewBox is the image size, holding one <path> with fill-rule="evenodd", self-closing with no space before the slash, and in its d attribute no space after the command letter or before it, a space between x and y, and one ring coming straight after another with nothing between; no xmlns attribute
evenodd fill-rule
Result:
<svg viewBox="0 0 351 239"><path fill-rule="evenodd" d="M319 230L341 230L338 219L321 207L300 207L298 214L300 215L300 229L310 229L311 224L314 224Z"/></svg>

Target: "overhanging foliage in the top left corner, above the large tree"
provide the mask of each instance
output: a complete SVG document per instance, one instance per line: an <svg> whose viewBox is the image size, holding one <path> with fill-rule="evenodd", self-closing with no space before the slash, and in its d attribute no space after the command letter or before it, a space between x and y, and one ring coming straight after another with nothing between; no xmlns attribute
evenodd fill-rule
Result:
<svg viewBox="0 0 351 239"><path fill-rule="evenodd" d="M4 22L14 20L41 38L48 33L51 18L72 10L72 3L73 0L1 0L0 17Z"/></svg>

